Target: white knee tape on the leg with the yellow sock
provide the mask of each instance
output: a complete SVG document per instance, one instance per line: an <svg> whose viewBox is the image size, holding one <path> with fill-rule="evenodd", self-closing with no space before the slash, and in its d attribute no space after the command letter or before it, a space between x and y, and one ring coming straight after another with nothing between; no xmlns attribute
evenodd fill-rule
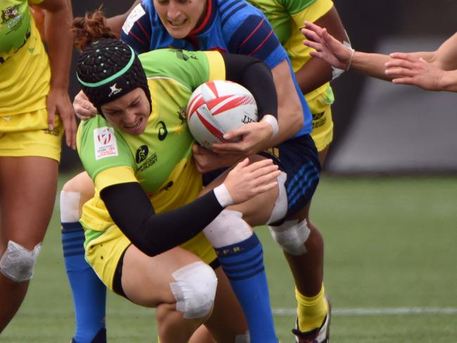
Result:
<svg viewBox="0 0 457 343"><path fill-rule="evenodd" d="M269 226L269 228L273 240L276 240L285 252L295 256L307 252L304 242L307 241L310 231L306 219L300 223L298 219L285 221L280 226Z"/></svg>

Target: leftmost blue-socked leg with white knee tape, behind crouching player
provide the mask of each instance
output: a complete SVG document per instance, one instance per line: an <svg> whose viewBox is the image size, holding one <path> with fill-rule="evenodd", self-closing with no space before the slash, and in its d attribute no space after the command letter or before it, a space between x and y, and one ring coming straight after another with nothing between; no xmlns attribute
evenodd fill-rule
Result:
<svg viewBox="0 0 457 343"><path fill-rule="evenodd" d="M82 205L93 196L94 183L85 171L60 191L63 258L75 309L75 343L106 342L106 287L84 259L84 230L79 223Z"/></svg>

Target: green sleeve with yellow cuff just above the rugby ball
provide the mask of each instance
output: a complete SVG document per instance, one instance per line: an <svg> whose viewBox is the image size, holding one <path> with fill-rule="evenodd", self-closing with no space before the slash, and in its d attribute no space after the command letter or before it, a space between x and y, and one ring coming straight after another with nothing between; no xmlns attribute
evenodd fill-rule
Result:
<svg viewBox="0 0 457 343"><path fill-rule="evenodd" d="M157 49L139 55L146 76L175 79L193 91L200 84L225 79L225 64L217 51Z"/></svg>

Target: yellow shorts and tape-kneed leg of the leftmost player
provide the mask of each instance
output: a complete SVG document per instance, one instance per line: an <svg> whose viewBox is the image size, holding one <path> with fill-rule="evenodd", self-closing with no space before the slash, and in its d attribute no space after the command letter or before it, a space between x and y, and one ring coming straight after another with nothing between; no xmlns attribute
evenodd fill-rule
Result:
<svg viewBox="0 0 457 343"><path fill-rule="evenodd" d="M0 133L0 332L13 318L33 276L56 200L60 119L47 111L2 118Z"/></svg>

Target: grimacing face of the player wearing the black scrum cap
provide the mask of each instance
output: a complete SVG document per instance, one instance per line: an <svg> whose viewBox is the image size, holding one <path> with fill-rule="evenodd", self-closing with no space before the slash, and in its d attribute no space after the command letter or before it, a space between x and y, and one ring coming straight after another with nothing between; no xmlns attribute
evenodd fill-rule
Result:
<svg viewBox="0 0 457 343"><path fill-rule="evenodd" d="M113 127L134 136L143 134L150 116L150 104L141 88L105 103L101 110Z"/></svg>

